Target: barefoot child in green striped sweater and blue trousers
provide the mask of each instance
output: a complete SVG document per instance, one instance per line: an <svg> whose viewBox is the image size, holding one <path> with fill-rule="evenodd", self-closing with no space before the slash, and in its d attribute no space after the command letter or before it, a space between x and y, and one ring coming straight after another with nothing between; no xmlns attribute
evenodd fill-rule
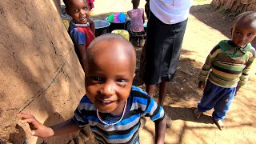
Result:
<svg viewBox="0 0 256 144"><path fill-rule="evenodd" d="M198 87L204 91L194 110L194 116L199 118L203 112L214 108L212 118L220 130L224 128L222 120L234 96L246 84L254 62L255 49L250 42L256 36L256 12L239 14L230 31L232 40L219 42L202 66Z"/></svg>

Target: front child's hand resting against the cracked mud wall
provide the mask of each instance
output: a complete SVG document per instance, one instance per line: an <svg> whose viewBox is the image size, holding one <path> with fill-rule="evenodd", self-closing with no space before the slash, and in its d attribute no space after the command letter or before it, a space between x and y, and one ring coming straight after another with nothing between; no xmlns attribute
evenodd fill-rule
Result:
<svg viewBox="0 0 256 144"><path fill-rule="evenodd" d="M48 138L54 135L54 131L47 126L42 125L42 123L38 122L34 115L21 113L17 115L18 118L22 118L22 123L29 123L31 135L37 136L40 138Z"/></svg>

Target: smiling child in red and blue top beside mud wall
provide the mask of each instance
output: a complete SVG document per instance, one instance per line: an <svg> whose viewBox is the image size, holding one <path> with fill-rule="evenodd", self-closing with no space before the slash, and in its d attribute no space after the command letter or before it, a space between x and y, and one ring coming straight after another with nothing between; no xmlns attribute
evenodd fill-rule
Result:
<svg viewBox="0 0 256 144"><path fill-rule="evenodd" d="M66 14L72 17L68 33L74 43L74 50L84 70L86 49L95 38L94 21L90 18L90 8L84 0L63 0Z"/></svg>

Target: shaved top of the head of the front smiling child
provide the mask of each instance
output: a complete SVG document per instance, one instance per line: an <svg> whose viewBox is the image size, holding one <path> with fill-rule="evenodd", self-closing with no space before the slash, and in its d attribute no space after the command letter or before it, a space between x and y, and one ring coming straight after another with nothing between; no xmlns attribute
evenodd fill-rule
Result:
<svg viewBox="0 0 256 144"><path fill-rule="evenodd" d="M119 34L103 34L94 39L86 52L86 70L88 64L98 58L106 58L106 62L130 61L135 72L136 53L134 46Z"/></svg>

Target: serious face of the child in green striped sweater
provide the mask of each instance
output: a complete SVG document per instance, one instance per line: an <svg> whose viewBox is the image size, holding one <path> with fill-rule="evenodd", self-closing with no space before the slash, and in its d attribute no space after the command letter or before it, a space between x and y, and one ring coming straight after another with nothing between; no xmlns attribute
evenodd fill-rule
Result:
<svg viewBox="0 0 256 144"><path fill-rule="evenodd" d="M256 36L256 22L237 22L231 28L232 41L236 46L246 46Z"/></svg>

